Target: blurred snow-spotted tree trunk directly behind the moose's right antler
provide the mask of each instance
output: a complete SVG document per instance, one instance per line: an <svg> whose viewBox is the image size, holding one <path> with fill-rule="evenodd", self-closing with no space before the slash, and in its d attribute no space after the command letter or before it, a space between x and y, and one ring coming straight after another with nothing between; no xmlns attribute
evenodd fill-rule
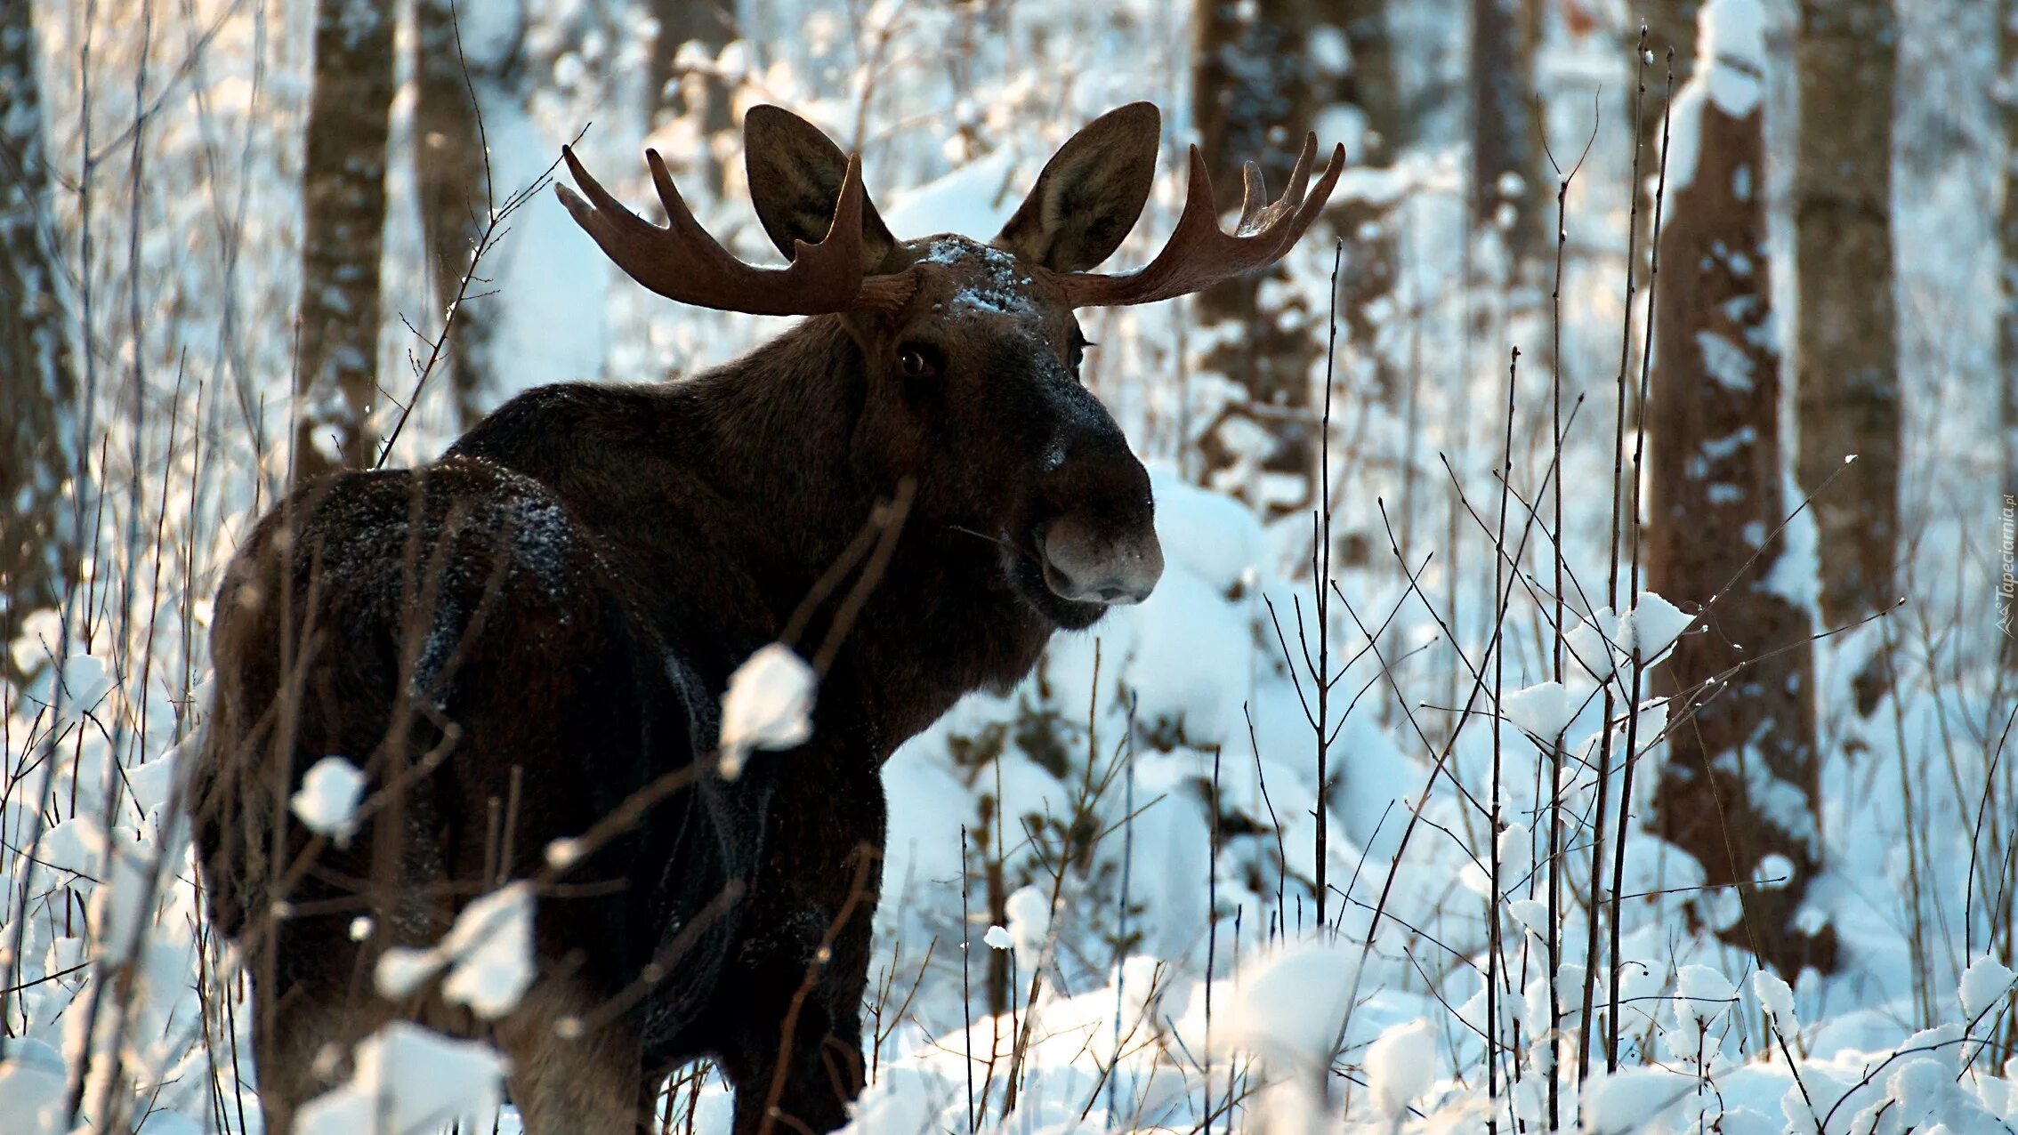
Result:
<svg viewBox="0 0 2018 1135"><path fill-rule="evenodd" d="M1346 103L1362 111L1368 137L1360 163L1384 163L1400 143L1386 28L1378 0L1324 4L1322 0L1199 0L1197 75L1193 119L1199 149L1213 171L1221 202L1241 200L1241 163L1255 161L1281 192L1318 111ZM1322 139L1330 143L1334 139ZM1376 218L1368 218L1376 220ZM1372 226L1354 226L1376 230ZM1380 242L1372 242L1380 244ZM1348 280L1384 292L1392 254L1356 246ZM1267 516L1302 514L1314 504L1312 476L1318 433L1312 409L1312 373L1322 361L1326 310L1290 298L1285 306L1261 302L1263 280L1281 280L1275 266L1255 276L1227 280L1197 300L1197 321L1217 343L1203 365L1235 383L1233 397L1205 427L1199 448L1203 480L1241 496ZM1354 333L1366 296L1342 304L1348 335L1364 337L1370 357L1370 323ZM1296 488L1290 488L1296 486Z"/></svg>

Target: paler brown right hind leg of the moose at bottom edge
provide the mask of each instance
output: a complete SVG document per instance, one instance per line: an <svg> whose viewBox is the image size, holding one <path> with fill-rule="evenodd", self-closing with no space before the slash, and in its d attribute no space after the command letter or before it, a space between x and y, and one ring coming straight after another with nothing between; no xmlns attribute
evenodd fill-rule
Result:
<svg viewBox="0 0 2018 1135"><path fill-rule="evenodd" d="M496 1026L511 1058L511 1099L527 1135L634 1135L650 1129L640 1107L644 1052L630 1016L597 1020L607 998L579 982L535 986Z"/></svg>

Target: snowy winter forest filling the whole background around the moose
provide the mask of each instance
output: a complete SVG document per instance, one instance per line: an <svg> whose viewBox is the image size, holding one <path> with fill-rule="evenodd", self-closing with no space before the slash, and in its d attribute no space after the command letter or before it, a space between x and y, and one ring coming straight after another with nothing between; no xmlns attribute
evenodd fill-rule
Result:
<svg viewBox="0 0 2018 1135"><path fill-rule="evenodd" d="M260 516L793 327L638 286L563 145L775 268L753 107L989 240L1136 101L1110 272L1187 145L1227 226L1346 167L1078 312L1162 577L882 766L848 1131L2018 1131L2018 2L0 0L0 1135L266 1125L188 818ZM811 679L759 651L722 748L817 778ZM367 756L272 806L345 841ZM490 875L353 990L462 1024L315 1052L297 1131L527 1129L559 899Z"/></svg>

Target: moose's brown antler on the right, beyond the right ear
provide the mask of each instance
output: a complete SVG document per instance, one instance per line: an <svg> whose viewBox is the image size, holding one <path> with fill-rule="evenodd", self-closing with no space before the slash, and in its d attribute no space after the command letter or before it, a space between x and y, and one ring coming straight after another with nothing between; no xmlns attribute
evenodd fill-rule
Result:
<svg viewBox="0 0 2018 1135"><path fill-rule="evenodd" d="M1304 137L1304 153L1290 173L1290 187L1273 204L1261 183L1261 169L1249 161L1241 169L1241 220L1233 232L1219 228L1219 204L1213 200L1213 179L1205 157L1191 147L1191 185L1185 190L1185 212L1162 252L1134 272L1059 272L1053 276L1072 306L1122 306L1168 300L1201 292L1219 280L1265 268L1279 260L1304 230L1318 220L1324 202L1346 169L1346 147L1332 149L1324 175L1310 187L1310 165L1318 157L1318 135ZM1310 190L1306 194L1306 187Z"/></svg>

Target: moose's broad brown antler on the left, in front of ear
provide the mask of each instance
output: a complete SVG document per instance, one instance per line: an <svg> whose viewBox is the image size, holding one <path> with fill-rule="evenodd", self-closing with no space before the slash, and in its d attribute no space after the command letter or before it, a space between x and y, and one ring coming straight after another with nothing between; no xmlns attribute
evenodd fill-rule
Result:
<svg viewBox="0 0 2018 1135"><path fill-rule="evenodd" d="M672 173L656 149L646 149L652 185L666 206L666 228L646 222L609 196L581 167L571 147L561 147L567 171L587 202L567 185L555 194L603 254L632 280L680 302L749 314L827 314L837 310L898 306L910 294L904 276L866 276L862 268L862 157L848 157L833 224L819 244L795 242L789 268L755 268L714 242L680 200Z"/></svg>

